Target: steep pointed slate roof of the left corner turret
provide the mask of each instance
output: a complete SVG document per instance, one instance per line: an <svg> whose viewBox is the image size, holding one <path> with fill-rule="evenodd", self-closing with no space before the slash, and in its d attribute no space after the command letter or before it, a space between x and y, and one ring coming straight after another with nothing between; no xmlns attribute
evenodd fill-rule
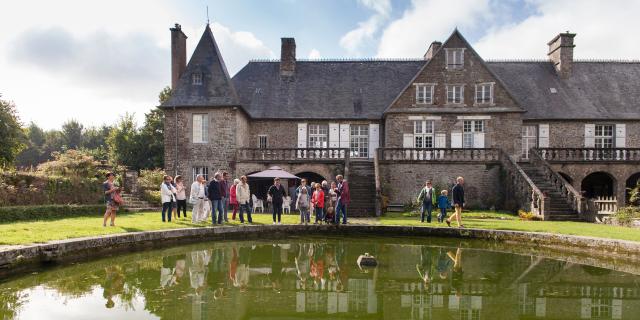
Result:
<svg viewBox="0 0 640 320"><path fill-rule="evenodd" d="M194 77L200 77L201 84L194 84ZM171 98L163 103L162 107L239 105L240 99L233 87L213 32L207 24L187 68L180 76L178 85L173 89Z"/></svg>

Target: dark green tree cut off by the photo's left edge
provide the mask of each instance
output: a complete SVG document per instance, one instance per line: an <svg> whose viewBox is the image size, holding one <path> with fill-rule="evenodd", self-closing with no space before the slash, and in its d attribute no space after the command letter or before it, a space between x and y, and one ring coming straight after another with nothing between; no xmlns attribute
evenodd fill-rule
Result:
<svg viewBox="0 0 640 320"><path fill-rule="evenodd" d="M15 104L0 99L0 168L13 165L25 142Z"/></svg>

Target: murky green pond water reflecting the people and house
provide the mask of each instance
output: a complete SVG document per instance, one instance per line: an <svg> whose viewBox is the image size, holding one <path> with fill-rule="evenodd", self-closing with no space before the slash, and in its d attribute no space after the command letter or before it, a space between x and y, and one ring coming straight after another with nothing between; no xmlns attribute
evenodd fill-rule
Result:
<svg viewBox="0 0 640 320"><path fill-rule="evenodd" d="M219 241L0 280L0 319L640 319L640 276L479 241ZM377 258L361 269L361 254Z"/></svg>

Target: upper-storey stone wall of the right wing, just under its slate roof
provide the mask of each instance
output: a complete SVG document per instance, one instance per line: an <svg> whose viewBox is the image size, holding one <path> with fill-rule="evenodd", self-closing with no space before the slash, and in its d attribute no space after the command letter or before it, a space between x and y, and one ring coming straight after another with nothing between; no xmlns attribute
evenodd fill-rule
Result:
<svg viewBox="0 0 640 320"><path fill-rule="evenodd" d="M640 148L640 121L523 121L525 125L549 124L549 148L584 148L585 124L625 124L626 147ZM615 140L615 139L614 139Z"/></svg>

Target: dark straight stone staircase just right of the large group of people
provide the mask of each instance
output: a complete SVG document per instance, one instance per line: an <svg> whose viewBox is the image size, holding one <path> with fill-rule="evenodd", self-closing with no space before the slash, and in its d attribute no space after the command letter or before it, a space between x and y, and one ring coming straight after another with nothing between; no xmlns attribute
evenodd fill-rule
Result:
<svg viewBox="0 0 640 320"><path fill-rule="evenodd" d="M375 216L376 183L373 161L351 160L349 162L349 191L351 204L347 215L351 217Z"/></svg>

